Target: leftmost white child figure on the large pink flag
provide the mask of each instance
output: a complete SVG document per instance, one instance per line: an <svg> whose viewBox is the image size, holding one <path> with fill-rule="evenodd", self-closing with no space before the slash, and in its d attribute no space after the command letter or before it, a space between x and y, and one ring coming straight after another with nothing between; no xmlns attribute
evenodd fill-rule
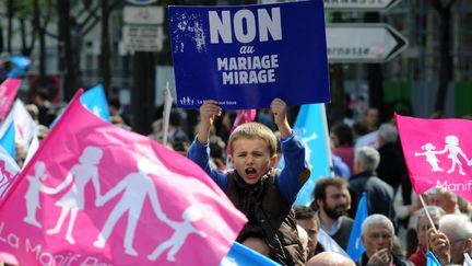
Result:
<svg viewBox="0 0 472 266"><path fill-rule="evenodd" d="M23 221L30 223L32 225L42 228L42 224L36 220L36 210L39 206L39 193L46 194L57 194L62 190L68 184L62 183L56 188L50 188L45 186L42 181L46 180L46 164L42 161L38 161L35 164L35 174L26 176L30 182L30 186L25 194L26 200L26 217L23 218Z"/></svg>

